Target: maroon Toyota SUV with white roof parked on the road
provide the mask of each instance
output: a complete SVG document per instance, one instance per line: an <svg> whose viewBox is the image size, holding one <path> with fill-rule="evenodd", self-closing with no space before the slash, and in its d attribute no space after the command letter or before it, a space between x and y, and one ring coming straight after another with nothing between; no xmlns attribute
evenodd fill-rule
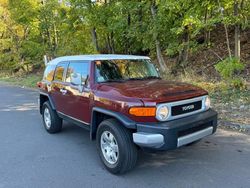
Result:
<svg viewBox="0 0 250 188"><path fill-rule="evenodd" d="M162 80L148 57L56 58L38 86L45 129L61 131L62 120L88 129L112 173L132 169L138 148L175 149L217 128L207 91Z"/></svg>

